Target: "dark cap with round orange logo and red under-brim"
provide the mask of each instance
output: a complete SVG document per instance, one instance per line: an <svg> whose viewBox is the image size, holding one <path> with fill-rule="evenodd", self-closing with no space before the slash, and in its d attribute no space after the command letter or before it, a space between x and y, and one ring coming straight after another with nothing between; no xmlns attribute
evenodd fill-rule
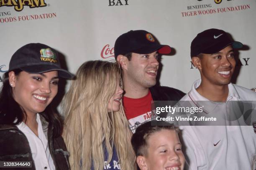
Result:
<svg viewBox="0 0 256 170"><path fill-rule="evenodd" d="M124 33L117 38L114 46L115 59L120 54L149 54L154 51L158 51L160 54L168 54L171 52L171 47L159 44L154 36L146 30L130 30Z"/></svg>

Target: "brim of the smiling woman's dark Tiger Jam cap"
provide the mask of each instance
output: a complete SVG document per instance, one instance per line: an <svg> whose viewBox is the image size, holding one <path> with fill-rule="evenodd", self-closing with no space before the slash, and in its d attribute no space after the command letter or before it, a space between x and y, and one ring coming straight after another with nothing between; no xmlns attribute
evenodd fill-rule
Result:
<svg viewBox="0 0 256 170"><path fill-rule="evenodd" d="M59 77L62 77L64 79L73 79L73 77L74 77L74 74L69 73L69 71L61 69L54 65L52 65L52 66L49 66L49 65L26 66L26 67L21 67L20 69L23 71L26 71L28 73L31 73L31 74L42 74L42 73L49 72L49 71L58 71Z"/></svg>

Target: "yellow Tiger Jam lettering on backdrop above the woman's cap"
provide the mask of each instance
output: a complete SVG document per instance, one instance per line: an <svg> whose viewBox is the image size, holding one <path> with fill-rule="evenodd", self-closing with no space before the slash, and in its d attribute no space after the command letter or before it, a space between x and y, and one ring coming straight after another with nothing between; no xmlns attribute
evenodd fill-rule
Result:
<svg viewBox="0 0 256 170"><path fill-rule="evenodd" d="M29 8L45 7L47 4L44 0L0 0L0 7L2 6L14 6L16 11L22 11L24 6Z"/></svg>

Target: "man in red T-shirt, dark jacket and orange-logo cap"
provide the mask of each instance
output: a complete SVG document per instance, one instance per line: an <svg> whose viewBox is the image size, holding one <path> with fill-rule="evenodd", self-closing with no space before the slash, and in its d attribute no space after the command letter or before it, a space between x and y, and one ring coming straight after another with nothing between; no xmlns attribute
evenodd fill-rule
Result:
<svg viewBox="0 0 256 170"><path fill-rule="evenodd" d="M161 45L146 30L131 30L115 41L115 59L122 68L125 114L131 130L156 117L151 112L151 102L178 101L184 96L182 91L156 85L159 69L159 54L168 54L171 47Z"/></svg>

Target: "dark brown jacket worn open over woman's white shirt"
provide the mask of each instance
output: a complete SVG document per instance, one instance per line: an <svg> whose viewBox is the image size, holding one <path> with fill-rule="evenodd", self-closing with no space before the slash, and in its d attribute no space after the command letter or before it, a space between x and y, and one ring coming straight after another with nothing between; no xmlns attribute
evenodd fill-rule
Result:
<svg viewBox="0 0 256 170"><path fill-rule="evenodd" d="M69 152L63 138L54 138L53 127L49 126L44 117L40 116L40 119L56 170L69 170ZM28 139L16 126L0 124L0 161L31 161L32 168L18 169L36 170Z"/></svg>

